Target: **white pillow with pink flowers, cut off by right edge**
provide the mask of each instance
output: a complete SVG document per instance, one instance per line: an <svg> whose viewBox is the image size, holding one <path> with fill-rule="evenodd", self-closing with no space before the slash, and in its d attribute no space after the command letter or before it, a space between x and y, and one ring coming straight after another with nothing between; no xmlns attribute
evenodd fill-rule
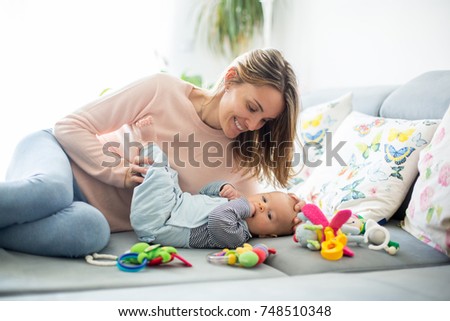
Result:
<svg viewBox="0 0 450 321"><path fill-rule="evenodd" d="M450 106L419 158L403 229L450 256Z"/></svg>

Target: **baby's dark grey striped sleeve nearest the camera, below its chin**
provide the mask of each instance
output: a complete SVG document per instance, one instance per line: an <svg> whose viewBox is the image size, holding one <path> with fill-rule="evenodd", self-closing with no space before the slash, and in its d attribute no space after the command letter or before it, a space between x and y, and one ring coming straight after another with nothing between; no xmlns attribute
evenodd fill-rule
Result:
<svg viewBox="0 0 450 321"><path fill-rule="evenodd" d="M190 247L241 246L252 237L245 222L249 216L250 206L245 198L235 199L216 207L209 214L208 223L191 230Z"/></svg>

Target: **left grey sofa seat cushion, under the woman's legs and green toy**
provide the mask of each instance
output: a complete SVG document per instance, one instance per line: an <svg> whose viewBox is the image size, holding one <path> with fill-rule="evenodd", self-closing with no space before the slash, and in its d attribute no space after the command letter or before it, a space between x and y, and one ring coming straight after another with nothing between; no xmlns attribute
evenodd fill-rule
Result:
<svg viewBox="0 0 450 321"><path fill-rule="evenodd" d="M134 232L114 233L102 253L121 255L138 242ZM211 249L179 249L178 254L192 264L179 260L152 266L139 272L122 272L115 266L94 266L83 258L34 256L0 249L0 297L24 293L87 291L140 286L248 280L285 276L261 264L243 269L215 266L207 262ZM153 293L153 296L157 293ZM185 298L188 299L188 298Z"/></svg>

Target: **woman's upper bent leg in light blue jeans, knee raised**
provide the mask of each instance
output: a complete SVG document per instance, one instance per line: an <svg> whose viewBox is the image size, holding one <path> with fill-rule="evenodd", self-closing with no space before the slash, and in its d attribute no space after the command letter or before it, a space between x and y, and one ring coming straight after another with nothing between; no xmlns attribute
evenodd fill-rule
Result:
<svg viewBox="0 0 450 321"><path fill-rule="evenodd" d="M55 137L47 131L25 137L0 182L0 228L47 217L72 201L72 169Z"/></svg>

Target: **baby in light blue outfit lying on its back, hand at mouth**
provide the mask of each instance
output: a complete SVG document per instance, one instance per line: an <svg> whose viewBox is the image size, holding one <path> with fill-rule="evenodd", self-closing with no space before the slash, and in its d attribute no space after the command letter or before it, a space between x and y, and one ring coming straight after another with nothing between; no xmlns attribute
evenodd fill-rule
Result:
<svg viewBox="0 0 450 321"><path fill-rule="evenodd" d="M294 231L299 198L270 192L243 197L223 181L203 187L199 194L183 192L178 173L169 167L152 141L155 126L147 117L132 127L145 146L141 156L155 161L135 187L131 225L141 241L190 248L235 248L253 236L281 236Z"/></svg>

